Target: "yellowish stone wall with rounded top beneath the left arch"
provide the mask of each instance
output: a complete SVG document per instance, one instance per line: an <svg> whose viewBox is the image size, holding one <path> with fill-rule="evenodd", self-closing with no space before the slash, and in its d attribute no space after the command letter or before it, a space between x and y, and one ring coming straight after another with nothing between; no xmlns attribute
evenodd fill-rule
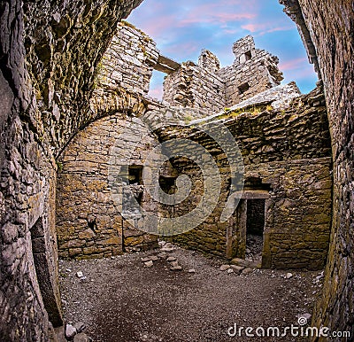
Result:
<svg viewBox="0 0 354 342"><path fill-rule="evenodd" d="M134 166L142 170L147 155L157 144L142 121L115 114L96 120L75 136L60 159L57 197L59 255L64 258L101 258L123 252L149 249L157 237L145 234L127 222L122 211L134 211L133 198L139 198L147 212L158 206L143 190L138 179L127 174L119 183L116 167ZM120 163L120 164L118 164ZM128 170L124 172L128 173ZM128 179L130 177L130 179ZM134 184L127 184L133 181ZM122 203L123 202L123 203ZM122 206L131 206L123 208Z"/></svg>

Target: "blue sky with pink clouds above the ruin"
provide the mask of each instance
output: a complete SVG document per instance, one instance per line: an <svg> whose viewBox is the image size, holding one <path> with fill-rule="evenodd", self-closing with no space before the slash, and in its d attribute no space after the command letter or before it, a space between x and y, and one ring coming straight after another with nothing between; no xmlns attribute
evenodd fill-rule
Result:
<svg viewBox="0 0 354 342"><path fill-rule="evenodd" d="M203 49L212 51L221 66L235 60L232 45L253 35L256 47L280 59L286 84L296 81L303 93L316 86L295 23L278 0L144 0L127 18L157 43L161 54L177 62L197 62ZM154 71L150 96L162 97L165 74Z"/></svg>

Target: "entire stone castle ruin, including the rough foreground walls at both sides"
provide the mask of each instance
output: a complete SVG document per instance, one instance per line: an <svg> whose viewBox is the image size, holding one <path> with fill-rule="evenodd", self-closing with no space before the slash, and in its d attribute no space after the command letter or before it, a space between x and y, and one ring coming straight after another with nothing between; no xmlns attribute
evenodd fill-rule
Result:
<svg viewBox="0 0 354 342"><path fill-rule="evenodd" d="M143 182L159 146L168 152L187 138L204 148L197 158L217 165L219 196L173 243L231 260L254 257L257 241L258 266L325 267L312 325L354 336L353 6L280 2L319 74L307 95L281 85L278 59L251 36L234 44L232 66L220 67L211 51L197 63L165 57L121 21L142 0L0 4L0 339L48 341L63 324L58 257L153 248L145 216L196 208L204 175L195 160L176 155L158 175L165 194L189 176L189 197L175 206ZM153 70L166 74L162 102L148 96ZM236 172L207 134L222 127L242 155Z"/></svg>

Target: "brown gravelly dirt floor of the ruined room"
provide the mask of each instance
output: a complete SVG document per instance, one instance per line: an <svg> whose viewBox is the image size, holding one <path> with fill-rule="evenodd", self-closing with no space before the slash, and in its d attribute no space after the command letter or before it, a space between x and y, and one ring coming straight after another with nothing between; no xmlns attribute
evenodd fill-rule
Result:
<svg viewBox="0 0 354 342"><path fill-rule="evenodd" d="M235 323L237 329L298 326L298 316L312 313L320 272L254 269L237 275L221 271L222 260L180 248L169 252L167 257L175 257L181 271L170 270L165 257L155 258L150 268L142 262L161 250L114 259L60 260L65 322L85 323L85 332L103 342L304 340L229 337L227 330ZM196 272L189 273L191 269Z"/></svg>

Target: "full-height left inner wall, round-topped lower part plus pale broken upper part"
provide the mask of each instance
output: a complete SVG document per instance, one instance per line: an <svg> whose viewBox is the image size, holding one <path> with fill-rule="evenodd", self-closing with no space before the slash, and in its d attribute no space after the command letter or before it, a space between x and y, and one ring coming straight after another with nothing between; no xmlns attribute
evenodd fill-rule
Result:
<svg viewBox="0 0 354 342"><path fill-rule="evenodd" d="M135 194L148 213L158 213L158 204L151 200L140 182L135 185L124 184L124 181L111 184L110 163L117 152L124 155L124 151L117 149L132 152L135 144L142 141L126 163L133 163L135 172L142 173L144 159L156 142L148 126L137 117L147 110L165 109L164 105L147 97L147 93L153 67L169 66L173 66L172 61L160 56L156 44L147 35L127 22L119 24L100 63L96 89L90 99L96 119L102 119L95 120L75 136L58 159L60 256L97 258L156 245L156 236L139 230L143 218L139 218L133 198L128 198L128 190ZM178 111L171 112L175 119L184 120L183 115L175 112ZM164 122L166 117L168 115L162 118ZM126 214L123 217L122 211ZM127 220L129 215L135 216L134 222Z"/></svg>

